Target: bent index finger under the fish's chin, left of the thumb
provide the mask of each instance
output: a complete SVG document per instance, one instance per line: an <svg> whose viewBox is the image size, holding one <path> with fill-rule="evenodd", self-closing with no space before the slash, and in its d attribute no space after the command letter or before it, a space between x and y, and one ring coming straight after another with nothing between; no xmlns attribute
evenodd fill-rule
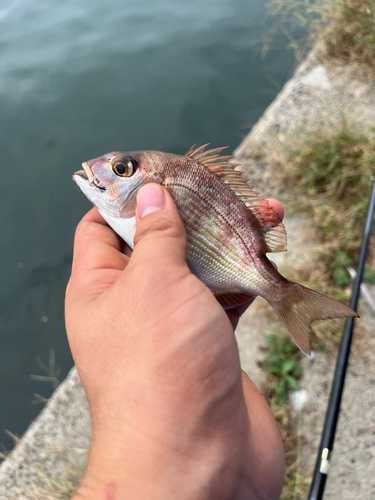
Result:
<svg viewBox="0 0 375 500"><path fill-rule="evenodd" d="M74 238L72 276L96 269L123 270L128 257L122 254L122 240L108 226L96 208L78 224Z"/></svg>

